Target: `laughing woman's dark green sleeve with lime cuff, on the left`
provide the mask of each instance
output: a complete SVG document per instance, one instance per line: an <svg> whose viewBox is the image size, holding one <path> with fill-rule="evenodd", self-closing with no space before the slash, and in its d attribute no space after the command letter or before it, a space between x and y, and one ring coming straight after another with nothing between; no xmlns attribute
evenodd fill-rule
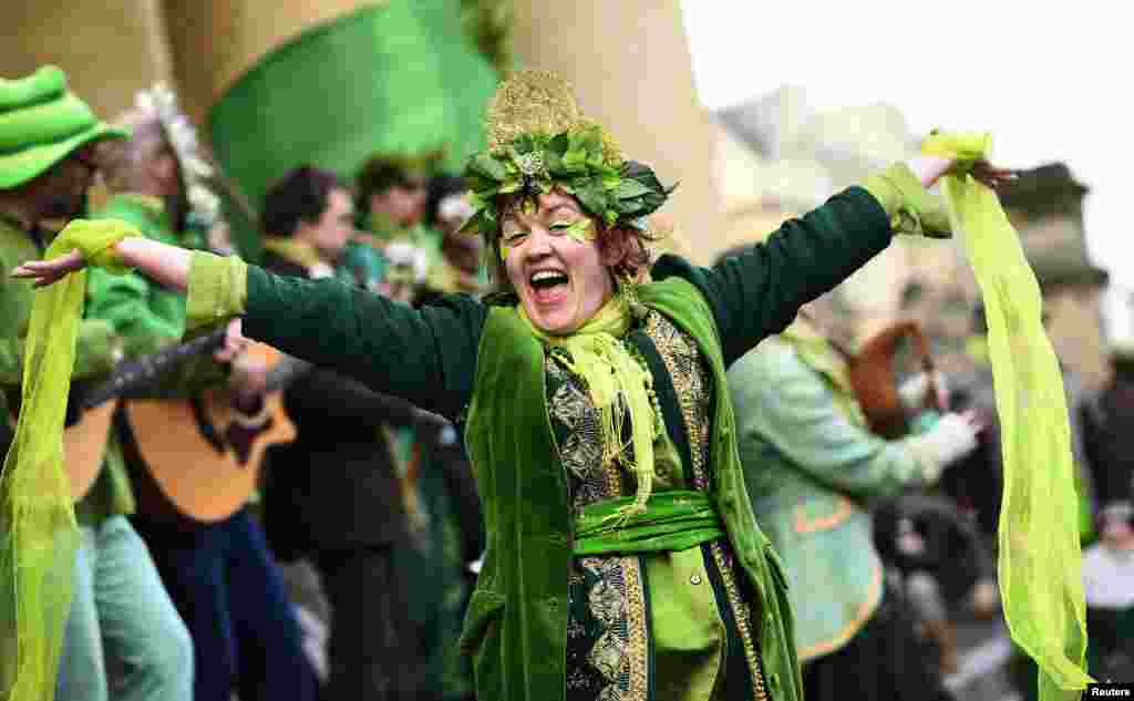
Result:
<svg viewBox="0 0 1134 701"><path fill-rule="evenodd" d="M448 295L414 309L336 279L274 276L239 259L196 253L189 324L244 315L244 332L450 420L472 397L486 307Z"/></svg>

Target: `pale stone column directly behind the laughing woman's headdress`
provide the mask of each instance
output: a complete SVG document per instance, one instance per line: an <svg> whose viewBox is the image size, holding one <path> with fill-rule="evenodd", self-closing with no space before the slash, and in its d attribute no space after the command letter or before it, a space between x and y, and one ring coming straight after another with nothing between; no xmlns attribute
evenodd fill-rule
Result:
<svg viewBox="0 0 1134 701"><path fill-rule="evenodd" d="M678 0L516 0L517 68L555 70L628 158L680 181L662 212L677 248L708 263L723 236L713 132L693 84Z"/></svg>

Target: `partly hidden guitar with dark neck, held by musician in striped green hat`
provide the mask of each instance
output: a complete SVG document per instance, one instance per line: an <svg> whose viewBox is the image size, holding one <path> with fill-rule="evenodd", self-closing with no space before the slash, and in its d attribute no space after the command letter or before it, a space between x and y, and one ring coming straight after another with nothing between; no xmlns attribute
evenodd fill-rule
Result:
<svg viewBox="0 0 1134 701"><path fill-rule="evenodd" d="M156 380L184 358L212 352L223 341L225 330L221 329L144 358L125 361L111 371L104 382L82 394L79 407L83 411L78 420L64 429L64 470L70 480L74 502L86 497L99 478L120 398ZM15 406L8 416L12 430L18 419L19 407Z"/></svg>

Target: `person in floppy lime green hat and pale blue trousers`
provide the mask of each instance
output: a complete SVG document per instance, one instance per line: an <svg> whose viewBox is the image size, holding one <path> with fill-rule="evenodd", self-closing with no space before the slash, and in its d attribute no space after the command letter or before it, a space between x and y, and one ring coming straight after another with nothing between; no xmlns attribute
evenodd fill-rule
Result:
<svg viewBox="0 0 1134 701"><path fill-rule="evenodd" d="M42 257L54 235L45 228L49 221L83 213L99 170L96 144L127 136L99 120L68 90L59 68L0 79L0 406L6 396L20 396L23 335L33 301L32 286L9 273ZM84 320L75 377L105 373L122 350L112 324ZM192 698L189 634L126 518L133 508L126 475L113 470L102 470L76 507L81 546L57 699L108 699L111 664L120 670L112 684L116 700Z"/></svg>

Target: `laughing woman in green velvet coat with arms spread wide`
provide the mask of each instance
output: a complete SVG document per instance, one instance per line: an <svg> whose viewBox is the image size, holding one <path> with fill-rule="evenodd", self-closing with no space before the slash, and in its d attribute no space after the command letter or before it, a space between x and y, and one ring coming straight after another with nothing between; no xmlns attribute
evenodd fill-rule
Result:
<svg viewBox="0 0 1134 701"><path fill-rule="evenodd" d="M479 699L798 701L786 575L752 514L725 369L919 222L954 166L897 164L714 268L650 265L648 217L670 189L565 82L524 71L466 174L465 230L501 287L485 301L413 309L128 227L110 251L188 289L195 324L243 316L248 336L463 426L488 542L460 641ZM88 248L18 275L50 284L104 250Z"/></svg>

